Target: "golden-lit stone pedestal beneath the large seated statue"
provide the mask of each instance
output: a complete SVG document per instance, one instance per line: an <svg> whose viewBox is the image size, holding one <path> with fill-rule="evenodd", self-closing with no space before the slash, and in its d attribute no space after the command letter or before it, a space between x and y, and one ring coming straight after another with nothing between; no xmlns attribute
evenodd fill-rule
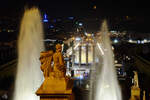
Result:
<svg viewBox="0 0 150 100"><path fill-rule="evenodd" d="M74 100L72 88L72 79L47 77L36 95L40 96L40 100Z"/></svg>

